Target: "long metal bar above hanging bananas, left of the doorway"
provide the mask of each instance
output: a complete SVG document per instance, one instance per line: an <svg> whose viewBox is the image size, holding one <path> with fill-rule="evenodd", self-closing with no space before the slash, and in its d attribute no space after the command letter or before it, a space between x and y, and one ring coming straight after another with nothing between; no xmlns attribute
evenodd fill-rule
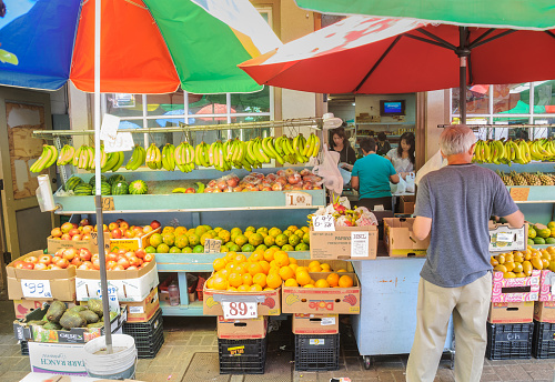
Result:
<svg viewBox="0 0 555 382"><path fill-rule="evenodd" d="M322 118L299 118L289 119L283 121L260 121L260 122L238 122L238 123L223 123L223 124L204 124L204 125L190 125L179 122L179 127L172 128L141 128L141 129L125 129L124 132L133 134L144 133L164 133L164 132L195 132L195 131L216 131L216 130L238 130L238 129L276 129L276 128L311 128L314 130L322 130ZM92 135L94 130L34 130L33 138L52 140L56 137L65 135Z"/></svg>

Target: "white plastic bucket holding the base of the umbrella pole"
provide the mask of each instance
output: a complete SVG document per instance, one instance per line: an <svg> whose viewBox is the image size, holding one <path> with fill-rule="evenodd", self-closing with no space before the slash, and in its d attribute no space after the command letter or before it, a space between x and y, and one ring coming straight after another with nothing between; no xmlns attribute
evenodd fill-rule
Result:
<svg viewBox="0 0 555 382"><path fill-rule="evenodd" d="M135 340L127 334L112 334L113 353L95 354L105 350L105 336L99 336L84 345L84 365L91 378L107 380L133 379L137 365Z"/></svg>

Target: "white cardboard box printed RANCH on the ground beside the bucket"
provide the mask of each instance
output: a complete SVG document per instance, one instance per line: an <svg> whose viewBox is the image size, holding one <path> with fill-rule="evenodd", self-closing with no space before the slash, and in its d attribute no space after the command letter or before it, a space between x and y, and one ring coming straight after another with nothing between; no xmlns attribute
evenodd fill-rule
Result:
<svg viewBox="0 0 555 382"><path fill-rule="evenodd" d="M122 326L117 328L113 333L122 334ZM71 375L71 381L73 381L75 375L88 375L84 365L85 358L84 343L29 342L29 360L31 371L34 373L54 372L59 375ZM99 380L94 379L94 381Z"/></svg>

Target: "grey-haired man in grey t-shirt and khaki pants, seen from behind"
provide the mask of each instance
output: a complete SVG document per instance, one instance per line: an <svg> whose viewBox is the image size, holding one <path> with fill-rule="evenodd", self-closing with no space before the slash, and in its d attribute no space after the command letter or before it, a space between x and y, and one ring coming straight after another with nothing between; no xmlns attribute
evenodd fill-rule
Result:
<svg viewBox="0 0 555 382"><path fill-rule="evenodd" d="M418 284L408 382L434 380L451 314L455 381L480 381L492 294L488 219L494 214L513 227L524 224L524 215L501 178L471 163L475 142L465 125L445 129L440 148L448 165L418 183L413 232L421 240L431 238Z"/></svg>

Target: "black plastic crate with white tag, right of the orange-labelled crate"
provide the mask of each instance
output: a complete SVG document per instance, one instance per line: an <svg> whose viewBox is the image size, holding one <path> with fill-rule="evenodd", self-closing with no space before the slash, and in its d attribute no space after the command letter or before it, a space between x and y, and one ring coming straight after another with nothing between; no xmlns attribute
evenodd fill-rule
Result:
<svg viewBox="0 0 555 382"><path fill-rule="evenodd" d="M340 369L340 334L295 334L295 370Z"/></svg>

